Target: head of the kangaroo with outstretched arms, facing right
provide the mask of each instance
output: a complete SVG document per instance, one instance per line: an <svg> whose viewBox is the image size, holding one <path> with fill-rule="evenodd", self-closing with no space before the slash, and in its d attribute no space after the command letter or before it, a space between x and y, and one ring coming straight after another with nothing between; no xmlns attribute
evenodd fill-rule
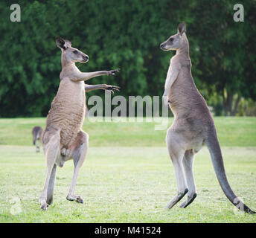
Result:
<svg viewBox="0 0 256 238"><path fill-rule="evenodd" d="M89 61L89 56L84 54L82 51L79 51L77 48L71 47L71 42L62 39L58 37L56 39L56 45L61 49L63 52L61 55L61 60L64 63L68 62L88 62Z"/></svg>

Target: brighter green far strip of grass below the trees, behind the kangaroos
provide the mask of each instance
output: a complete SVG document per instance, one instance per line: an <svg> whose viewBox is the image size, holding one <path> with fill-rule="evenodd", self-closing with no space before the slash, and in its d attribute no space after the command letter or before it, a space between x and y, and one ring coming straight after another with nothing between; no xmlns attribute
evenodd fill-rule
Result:
<svg viewBox="0 0 256 238"><path fill-rule="evenodd" d="M256 118L214 118L220 145L255 147ZM173 122L169 119L168 125ZM91 147L165 147L166 129L159 123L92 123L86 118L83 129L90 135ZM33 126L45 128L45 118L0 119L0 145L31 146Z"/></svg>

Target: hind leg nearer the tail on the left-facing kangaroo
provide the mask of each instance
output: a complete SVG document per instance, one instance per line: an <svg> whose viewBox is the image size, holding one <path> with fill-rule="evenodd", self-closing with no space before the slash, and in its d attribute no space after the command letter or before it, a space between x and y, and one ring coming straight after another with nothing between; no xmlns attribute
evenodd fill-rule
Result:
<svg viewBox="0 0 256 238"><path fill-rule="evenodd" d="M182 205L180 205L180 208L188 207L188 205L190 205L196 198L196 185L193 178L193 161L193 149L186 150L182 163L188 184L188 195L186 201L183 202Z"/></svg>

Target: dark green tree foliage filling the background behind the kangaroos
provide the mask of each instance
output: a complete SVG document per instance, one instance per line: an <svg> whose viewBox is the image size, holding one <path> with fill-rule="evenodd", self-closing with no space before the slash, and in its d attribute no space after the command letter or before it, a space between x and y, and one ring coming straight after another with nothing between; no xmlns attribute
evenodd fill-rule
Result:
<svg viewBox="0 0 256 238"><path fill-rule="evenodd" d="M19 3L22 22L10 22ZM208 100L256 96L255 1L244 1L245 22L233 21L236 1L83 0L1 1L0 117L47 115L60 82L60 49L69 39L89 55L81 71L121 68L118 77L88 83L121 86L121 94L161 95L170 57L159 45L187 23L192 74ZM103 94L93 91L92 94Z"/></svg>

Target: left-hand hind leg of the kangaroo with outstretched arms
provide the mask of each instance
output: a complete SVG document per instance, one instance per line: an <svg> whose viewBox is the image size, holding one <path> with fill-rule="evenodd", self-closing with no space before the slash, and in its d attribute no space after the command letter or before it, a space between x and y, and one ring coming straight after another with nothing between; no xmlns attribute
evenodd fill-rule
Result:
<svg viewBox="0 0 256 238"><path fill-rule="evenodd" d="M54 193L54 180L56 174L55 161L57 156L60 155L60 131L52 130L45 132L45 158L46 158L46 178L42 194L39 198L42 210L48 208L48 202L52 202Z"/></svg>

